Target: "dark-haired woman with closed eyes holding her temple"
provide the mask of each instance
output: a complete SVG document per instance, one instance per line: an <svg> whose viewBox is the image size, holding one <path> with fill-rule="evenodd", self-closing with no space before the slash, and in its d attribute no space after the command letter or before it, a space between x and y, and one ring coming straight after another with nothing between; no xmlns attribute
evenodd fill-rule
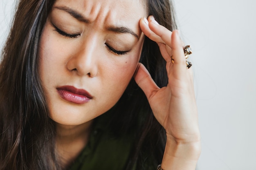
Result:
<svg viewBox="0 0 256 170"><path fill-rule="evenodd" d="M168 0L20 0L0 65L0 169L195 169L175 28Z"/></svg>

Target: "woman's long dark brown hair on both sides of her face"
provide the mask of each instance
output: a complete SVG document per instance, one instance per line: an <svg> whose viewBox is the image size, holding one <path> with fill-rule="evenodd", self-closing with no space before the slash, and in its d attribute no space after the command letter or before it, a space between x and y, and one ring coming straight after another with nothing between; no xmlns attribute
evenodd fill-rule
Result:
<svg viewBox="0 0 256 170"><path fill-rule="evenodd" d="M169 30L176 28L169 0L145 0L148 15ZM38 43L54 0L20 0L0 64L0 170L61 169L55 154L55 125L38 76ZM166 86L165 61L157 44L144 40L142 62L158 86ZM120 114L122 113L122 114ZM155 169L161 163L165 131L153 116L134 79L106 113L115 134L134 133L127 170ZM148 159L150 157L150 159ZM150 161L147 161L150 160Z"/></svg>

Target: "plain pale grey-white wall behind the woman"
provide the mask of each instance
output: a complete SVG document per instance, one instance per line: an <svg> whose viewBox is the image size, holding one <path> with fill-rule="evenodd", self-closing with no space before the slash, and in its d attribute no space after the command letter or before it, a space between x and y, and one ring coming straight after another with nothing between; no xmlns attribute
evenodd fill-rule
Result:
<svg viewBox="0 0 256 170"><path fill-rule="evenodd" d="M0 0L0 47L14 0ZM256 1L175 0L193 48L202 134L198 170L256 170Z"/></svg>

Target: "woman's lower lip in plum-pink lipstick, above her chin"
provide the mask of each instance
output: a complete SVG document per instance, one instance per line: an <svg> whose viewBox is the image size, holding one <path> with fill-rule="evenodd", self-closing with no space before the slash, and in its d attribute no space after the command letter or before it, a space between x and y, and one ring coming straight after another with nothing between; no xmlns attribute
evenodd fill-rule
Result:
<svg viewBox="0 0 256 170"><path fill-rule="evenodd" d="M57 89L57 91L59 95L68 102L85 104L90 101L90 98L86 97L85 95L79 95L63 89Z"/></svg>

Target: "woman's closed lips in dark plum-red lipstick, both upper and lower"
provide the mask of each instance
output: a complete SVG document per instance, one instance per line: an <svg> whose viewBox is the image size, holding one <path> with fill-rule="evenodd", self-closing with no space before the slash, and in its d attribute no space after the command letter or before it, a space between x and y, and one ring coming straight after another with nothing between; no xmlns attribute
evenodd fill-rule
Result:
<svg viewBox="0 0 256 170"><path fill-rule="evenodd" d="M92 99L90 93L74 86L61 86L57 88L57 91L63 99L75 104L85 104Z"/></svg>

